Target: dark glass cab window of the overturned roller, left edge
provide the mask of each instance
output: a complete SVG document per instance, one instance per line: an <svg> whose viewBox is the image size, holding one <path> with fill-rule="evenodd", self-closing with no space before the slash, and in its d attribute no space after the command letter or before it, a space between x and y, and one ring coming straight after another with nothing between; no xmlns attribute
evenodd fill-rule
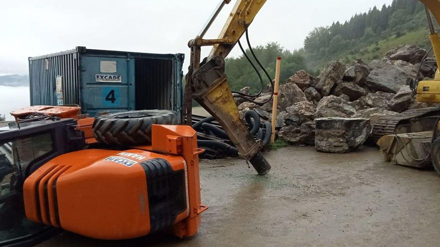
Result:
<svg viewBox="0 0 440 247"><path fill-rule="evenodd" d="M19 170L52 150L50 133L0 143L0 246L48 228L26 219Z"/></svg>

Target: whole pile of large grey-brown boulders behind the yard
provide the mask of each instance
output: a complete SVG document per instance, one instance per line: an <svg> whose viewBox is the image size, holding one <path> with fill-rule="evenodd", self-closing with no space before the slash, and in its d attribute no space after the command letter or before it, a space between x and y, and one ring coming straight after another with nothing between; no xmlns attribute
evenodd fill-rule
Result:
<svg viewBox="0 0 440 247"><path fill-rule="evenodd" d="M436 67L420 66L425 54L415 45L400 45L368 64L360 59L348 65L330 61L317 78L297 71L279 86L278 138L292 145L315 145L318 151L349 152L363 144L378 118L434 106L417 102L409 86L433 77ZM269 87L254 101L268 98ZM254 110L262 121L271 120L272 101L258 105L237 100L240 117Z"/></svg>

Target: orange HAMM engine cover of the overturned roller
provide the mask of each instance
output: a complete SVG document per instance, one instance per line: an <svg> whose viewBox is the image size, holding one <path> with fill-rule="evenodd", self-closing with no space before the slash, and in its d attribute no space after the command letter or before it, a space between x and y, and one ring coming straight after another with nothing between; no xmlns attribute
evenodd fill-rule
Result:
<svg viewBox="0 0 440 247"><path fill-rule="evenodd" d="M193 133L192 140L166 135L175 131L167 127L153 125L153 135L162 138L154 143L153 137L152 146L125 151L88 149L50 160L24 182L26 217L104 240L136 238L162 229L178 237L194 235L199 214L206 209L200 204L200 150L185 146L182 140L196 143L195 131L188 132ZM160 151L163 143L174 154ZM172 148L170 143L177 146Z"/></svg>

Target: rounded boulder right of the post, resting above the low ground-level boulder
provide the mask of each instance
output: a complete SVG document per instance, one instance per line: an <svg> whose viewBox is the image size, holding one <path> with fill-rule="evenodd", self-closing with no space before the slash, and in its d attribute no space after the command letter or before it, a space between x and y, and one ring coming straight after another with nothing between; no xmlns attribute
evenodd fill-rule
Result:
<svg viewBox="0 0 440 247"><path fill-rule="evenodd" d="M287 112L284 116L285 124L296 126L313 120L315 113L313 104L308 101L294 103L292 106L285 108L285 111Z"/></svg>

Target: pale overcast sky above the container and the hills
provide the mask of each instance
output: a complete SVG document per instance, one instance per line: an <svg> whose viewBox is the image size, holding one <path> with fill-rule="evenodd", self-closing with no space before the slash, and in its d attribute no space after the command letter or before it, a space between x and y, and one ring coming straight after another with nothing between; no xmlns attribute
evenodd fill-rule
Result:
<svg viewBox="0 0 440 247"><path fill-rule="evenodd" d="M185 53L218 0L9 0L0 8L0 75L27 74L27 57L86 46L149 53ZM217 37L234 0L205 38ZM345 21L391 0L267 0L249 27L252 46L302 46L316 26ZM208 50L203 51L206 55ZM236 47L230 55L240 54Z"/></svg>

